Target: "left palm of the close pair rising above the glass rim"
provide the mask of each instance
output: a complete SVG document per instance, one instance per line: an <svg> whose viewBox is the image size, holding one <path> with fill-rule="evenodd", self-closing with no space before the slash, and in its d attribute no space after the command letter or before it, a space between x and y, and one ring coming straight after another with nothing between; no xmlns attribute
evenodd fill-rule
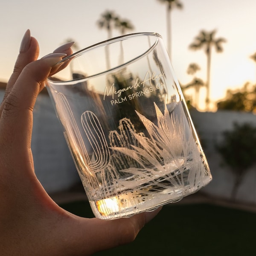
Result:
<svg viewBox="0 0 256 256"><path fill-rule="evenodd" d="M112 29L118 19L118 16L113 11L105 11L102 13L100 19L97 20L97 24L100 29L107 29L108 39L112 38Z"/></svg>

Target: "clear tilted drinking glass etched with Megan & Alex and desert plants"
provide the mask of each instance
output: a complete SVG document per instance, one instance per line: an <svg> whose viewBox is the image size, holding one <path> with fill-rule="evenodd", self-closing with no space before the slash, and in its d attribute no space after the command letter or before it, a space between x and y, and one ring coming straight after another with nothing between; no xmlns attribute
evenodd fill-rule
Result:
<svg viewBox="0 0 256 256"><path fill-rule="evenodd" d="M210 182L159 34L113 38L60 63L47 89L97 218L151 211Z"/></svg>

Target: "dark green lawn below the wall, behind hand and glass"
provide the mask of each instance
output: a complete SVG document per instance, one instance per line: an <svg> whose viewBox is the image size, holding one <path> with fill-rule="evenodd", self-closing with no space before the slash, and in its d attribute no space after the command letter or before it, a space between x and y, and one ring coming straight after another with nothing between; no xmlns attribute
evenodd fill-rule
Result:
<svg viewBox="0 0 256 256"><path fill-rule="evenodd" d="M93 217L88 202L61 205ZM210 204L165 206L131 244L96 256L254 256L256 214Z"/></svg>

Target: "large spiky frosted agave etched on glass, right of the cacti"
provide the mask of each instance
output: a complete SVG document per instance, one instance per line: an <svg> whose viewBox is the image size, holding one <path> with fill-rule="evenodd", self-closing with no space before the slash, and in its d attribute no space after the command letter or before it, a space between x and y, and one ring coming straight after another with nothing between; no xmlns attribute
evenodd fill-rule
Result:
<svg viewBox="0 0 256 256"><path fill-rule="evenodd" d="M133 141L136 143L130 144L129 147L111 147L112 150L133 159L139 167L134 165L123 169L122 172L130 173L134 178L119 180L119 183L126 188L136 184L138 189L142 189L148 182L166 188L170 183L175 187L193 187L204 175L204 165L189 123L183 115L170 114L166 106L163 114L157 105L154 105L157 125L136 112L149 138L131 130Z"/></svg>

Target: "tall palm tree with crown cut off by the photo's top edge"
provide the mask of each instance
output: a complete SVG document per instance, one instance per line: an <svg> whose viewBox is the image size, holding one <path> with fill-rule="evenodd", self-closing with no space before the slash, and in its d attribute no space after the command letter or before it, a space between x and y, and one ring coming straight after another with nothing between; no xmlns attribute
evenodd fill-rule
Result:
<svg viewBox="0 0 256 256"><path fill-rule="evenodd" d="M158 0L161 3L166 3L166 24L167 24L167 50L169 52L169 56L171 59L172 55L172 25L171 25L171 12L174 7L178 9L183 8L183 4L180 2L180 0Z"/></svg>

